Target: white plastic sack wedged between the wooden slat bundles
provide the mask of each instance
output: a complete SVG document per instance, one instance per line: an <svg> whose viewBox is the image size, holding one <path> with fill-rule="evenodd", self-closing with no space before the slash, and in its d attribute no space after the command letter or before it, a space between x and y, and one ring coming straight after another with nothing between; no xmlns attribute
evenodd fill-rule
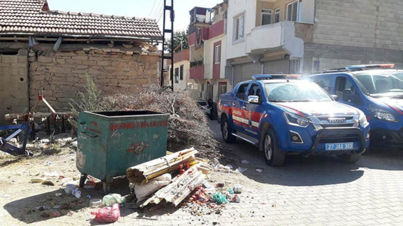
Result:
<svg viewBox="0 0 403 226"><path fill-rule="evenodd" d="M134 185L134 193L137 197L137 203L144 200L147 196L155 193L165 185L168 185L171 180L172 175L166 173L148 181L148 183L145 183L143 185L140 184Z"/></svg>

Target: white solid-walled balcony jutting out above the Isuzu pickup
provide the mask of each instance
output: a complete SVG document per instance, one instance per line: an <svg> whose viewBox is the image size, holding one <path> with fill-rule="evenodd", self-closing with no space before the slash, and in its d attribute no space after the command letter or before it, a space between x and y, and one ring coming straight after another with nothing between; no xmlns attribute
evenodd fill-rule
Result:
<svg viewBox="0 0 403 226"><path fill-rule="evenodd" d="M292 57L303 58L304 43L311 42L314 25L293 21L255 27L246 35L246 53L262 55L287 51Z"/></svg>

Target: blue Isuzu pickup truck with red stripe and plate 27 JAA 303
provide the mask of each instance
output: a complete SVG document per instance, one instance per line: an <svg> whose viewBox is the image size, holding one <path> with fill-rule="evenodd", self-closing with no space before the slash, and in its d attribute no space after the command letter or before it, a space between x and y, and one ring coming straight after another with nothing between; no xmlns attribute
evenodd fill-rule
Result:
<svg viewBox="0 0 403 226"><path fill-rule="evenodd" d="M364 113L338 103L313 82L284 75L254 75L217 103L222 138L258 146L270 166L287 154L335 154L353 163L368 148L370 126Z"/></svg>

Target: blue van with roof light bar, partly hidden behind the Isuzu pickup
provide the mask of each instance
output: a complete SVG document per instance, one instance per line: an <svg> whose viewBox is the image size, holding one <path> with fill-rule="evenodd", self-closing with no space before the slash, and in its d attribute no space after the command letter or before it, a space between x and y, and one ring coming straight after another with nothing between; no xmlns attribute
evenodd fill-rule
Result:
<svg viewBox="0 0 403 226"><path fill-rule="evenodd" d="M403 147L403 70L394 64L355 65L304 79L365 113L371 125L371 148Z"/></svg>

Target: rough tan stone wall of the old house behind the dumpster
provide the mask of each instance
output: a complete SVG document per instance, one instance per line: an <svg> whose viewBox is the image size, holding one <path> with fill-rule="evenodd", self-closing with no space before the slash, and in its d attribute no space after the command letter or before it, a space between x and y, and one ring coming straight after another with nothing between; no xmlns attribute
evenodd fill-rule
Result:
<svg viewBox="0 0 403 226"><path fill-rule="evenodd" d="M37 90L43 90L44 97L56 111L69 110L71 99L79 101L78 92L85 91L86 73L103 95L133 93L139 87L159 84L160 56L156 49L152 52L139 48L62 45L61 50L54 52L49 51L49 47L52 46L42 45L28 53L31 108L37 102ZM42 103L38 111L48 110Z"/></svg>

